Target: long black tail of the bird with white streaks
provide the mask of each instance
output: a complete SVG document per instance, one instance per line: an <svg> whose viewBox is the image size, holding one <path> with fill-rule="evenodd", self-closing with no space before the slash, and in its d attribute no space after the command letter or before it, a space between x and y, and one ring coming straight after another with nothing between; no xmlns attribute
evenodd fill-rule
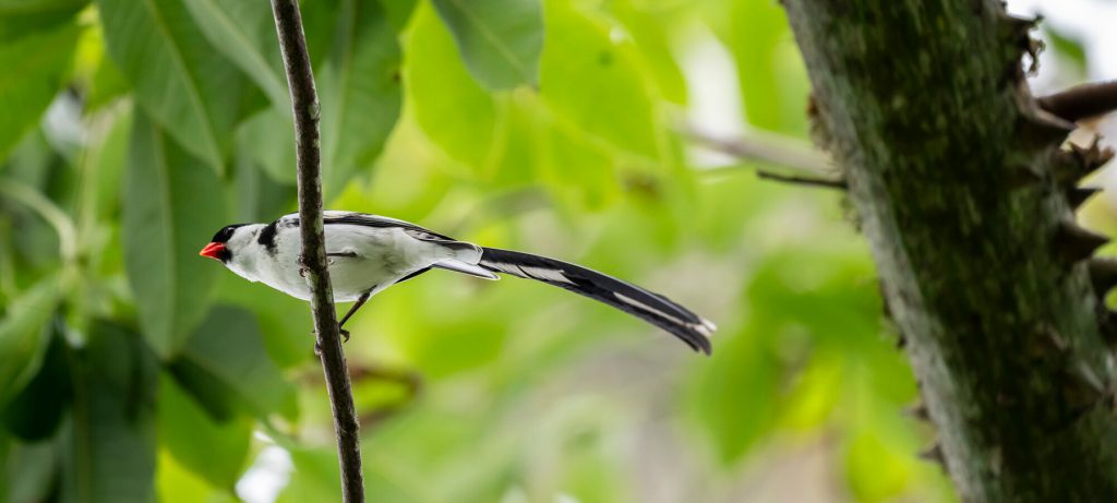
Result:
<svg viewBox="0 0 1117 503"><path fill-rule="evenodd" d="M709 335L717 329L713 323L631 283L553 258L497 248L483 248L478 265L585 295L670 332L695 351L710 352Z"/></svg>

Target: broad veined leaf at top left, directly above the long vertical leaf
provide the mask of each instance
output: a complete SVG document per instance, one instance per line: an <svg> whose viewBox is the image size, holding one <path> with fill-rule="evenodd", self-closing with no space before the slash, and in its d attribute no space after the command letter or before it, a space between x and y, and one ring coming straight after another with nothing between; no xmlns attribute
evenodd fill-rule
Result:
<svg viewBox="0 0 1117 503"><path fill-rule="evenodd" d="M108 54L136 99L183 148L225 172L245 78L182 0L97 0Z"/></svg>

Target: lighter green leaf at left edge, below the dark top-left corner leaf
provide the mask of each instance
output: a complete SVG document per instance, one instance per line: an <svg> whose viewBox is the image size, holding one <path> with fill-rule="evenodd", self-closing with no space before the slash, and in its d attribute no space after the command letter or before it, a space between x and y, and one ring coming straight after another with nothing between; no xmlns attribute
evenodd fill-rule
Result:
<svg viewBox="0 0 1117 503"><path fill-rule="evenodd" d="M0 42L0 159L38 124L69 75L77 27L63 25Z"/></svg>

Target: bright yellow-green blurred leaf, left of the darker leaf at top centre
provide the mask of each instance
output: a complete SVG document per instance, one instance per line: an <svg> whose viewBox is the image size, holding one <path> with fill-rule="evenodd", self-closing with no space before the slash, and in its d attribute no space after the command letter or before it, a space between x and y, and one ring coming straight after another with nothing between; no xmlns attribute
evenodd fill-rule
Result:
<svg viewBox="0 0 1117 503"><path fill-rule="evenodd" d="M433 9L419 6L408 38L408 105L423 132L474 169L486 164L496 130L496 103L466 70Z"/></svg>

